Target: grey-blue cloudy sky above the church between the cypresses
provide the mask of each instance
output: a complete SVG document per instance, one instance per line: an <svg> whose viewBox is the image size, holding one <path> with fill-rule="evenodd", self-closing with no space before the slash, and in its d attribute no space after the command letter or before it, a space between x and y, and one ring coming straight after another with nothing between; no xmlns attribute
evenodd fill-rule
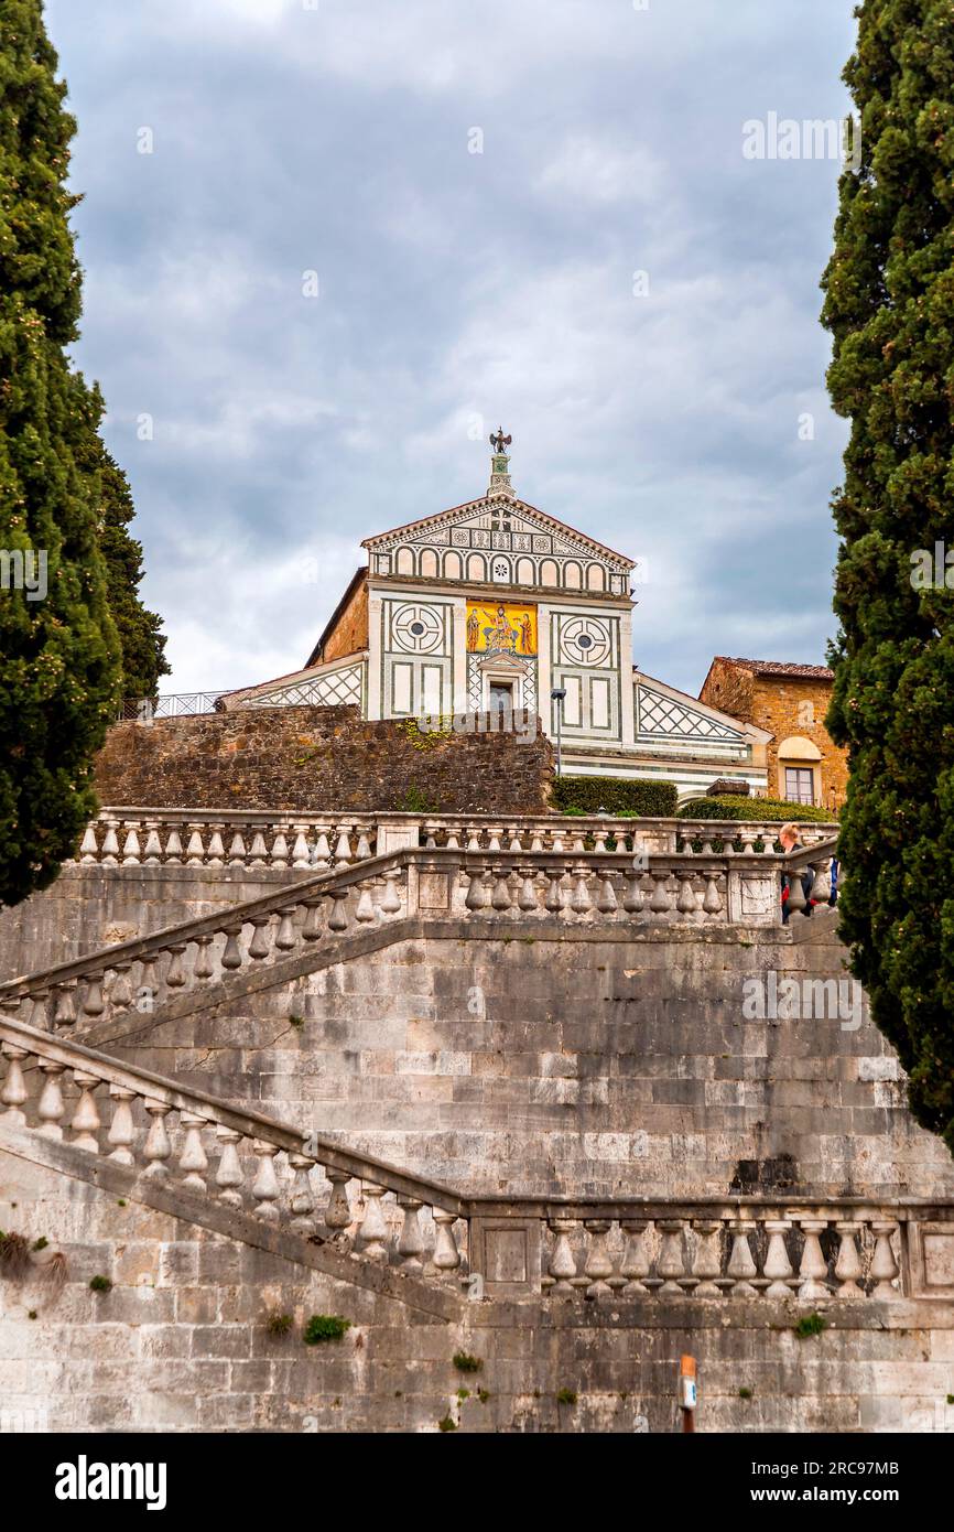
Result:
<svg viewBox="0 0 954 1532"><path fill-rule="evenodd" d="M361 538L482 493L499 423L518 493L646 561L649 674L824 659L838 164L743 144L845 112L851 0L47 0L47 25L77 357L165 689L302 665Z"/></svg>

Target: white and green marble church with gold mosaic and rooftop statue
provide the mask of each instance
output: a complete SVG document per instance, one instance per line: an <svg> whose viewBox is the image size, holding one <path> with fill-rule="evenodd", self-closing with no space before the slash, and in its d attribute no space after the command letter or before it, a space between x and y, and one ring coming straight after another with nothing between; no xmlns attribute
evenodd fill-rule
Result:
<svg viewBox="0 0 954 1532"><path fill-rule="evenodd" d="M770 735L632 665L635 561L521 499L510 438L487 492L368 538L305 666L221 706L351 703L366 719L542 719L577 775L764 792Z"/></svg>

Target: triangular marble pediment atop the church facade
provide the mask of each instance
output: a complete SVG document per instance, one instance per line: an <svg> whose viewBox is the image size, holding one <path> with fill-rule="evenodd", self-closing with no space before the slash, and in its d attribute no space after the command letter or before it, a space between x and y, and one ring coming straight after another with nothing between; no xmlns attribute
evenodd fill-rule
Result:
<svg viewBox="0 0 954 1532"><path fill-rule="evenodd" d="M635 565L635 559L616 553L513 495L484 496L466 506L455 506L435 516L423 516L392 532L366 538L361 544L372 555L413 545L586 558L605 564L616 574L629 574Z"/></svg>

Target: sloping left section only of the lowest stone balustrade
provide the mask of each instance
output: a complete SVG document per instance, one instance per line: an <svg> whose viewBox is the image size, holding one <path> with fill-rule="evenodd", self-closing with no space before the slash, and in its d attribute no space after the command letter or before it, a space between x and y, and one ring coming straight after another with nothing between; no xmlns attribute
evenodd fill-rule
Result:
<svg viewBox="0 0 954 1532"><path fill-rule="evenodd" d="M5 1017L0 1052L0 1143L29 1129L413 1276L455 1278L466 1258L462 1203L446 1187Z"/></svg>

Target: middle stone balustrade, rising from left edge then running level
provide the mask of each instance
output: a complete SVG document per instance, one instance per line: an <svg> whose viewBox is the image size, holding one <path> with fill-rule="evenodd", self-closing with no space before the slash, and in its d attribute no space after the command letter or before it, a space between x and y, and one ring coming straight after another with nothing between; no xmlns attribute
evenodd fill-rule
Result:
<svg viewBox="0 0 954 1532"><path fill-rule="evenodd" d="M400 919L564 925L778 925L784 858L723 847L642 850L403 850L341 863L228 910L103 947L0 985L0 1003L41 1030L126 1011L153 1014L185 990L268 967L322 941ZM831 843L815 856L827 898ZM792 879L790 908L804 910Z"/></svg>

